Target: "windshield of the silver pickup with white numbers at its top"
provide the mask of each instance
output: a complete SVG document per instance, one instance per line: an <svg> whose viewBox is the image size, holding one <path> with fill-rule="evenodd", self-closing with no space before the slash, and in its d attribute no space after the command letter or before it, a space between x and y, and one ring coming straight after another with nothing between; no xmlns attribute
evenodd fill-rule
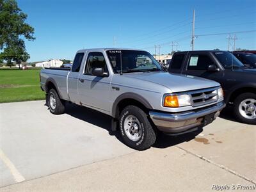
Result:
<svg viewBox="0 0 256 192"><path fill-rule="evenodd" d="M116 73L162 71L154 57L146 51L109 50L109 61Z"/></svg>

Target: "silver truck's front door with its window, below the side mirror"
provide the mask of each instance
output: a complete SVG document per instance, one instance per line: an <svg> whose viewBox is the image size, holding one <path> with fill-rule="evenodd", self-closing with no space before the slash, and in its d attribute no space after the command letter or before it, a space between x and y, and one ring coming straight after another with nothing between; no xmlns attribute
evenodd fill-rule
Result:
<svg viewBox="0 0 256 192"><path fill-rule="evenodd" d="M109 112L111 108L109 99L111 76L93 76L92 69L99 67L104 68L104 72L109 74L103 52L88 52L86 65L79 76L79 99L83 105L100 109L102 112Z"/></svg>

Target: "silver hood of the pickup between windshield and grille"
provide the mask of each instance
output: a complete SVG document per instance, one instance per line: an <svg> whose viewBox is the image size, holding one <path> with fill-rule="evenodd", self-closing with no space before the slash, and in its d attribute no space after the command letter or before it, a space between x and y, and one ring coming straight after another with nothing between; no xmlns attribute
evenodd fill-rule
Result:
<svg viewBox="0 0 256 192"><path fill-rule="evenodd" d="M172 92L186 92L220 86L219 83L201 77L182 74L170 74L167 72L144 72L124 74L125 77L149 81L169 88ZM154 89L154 88L152 88Z"/></svg>

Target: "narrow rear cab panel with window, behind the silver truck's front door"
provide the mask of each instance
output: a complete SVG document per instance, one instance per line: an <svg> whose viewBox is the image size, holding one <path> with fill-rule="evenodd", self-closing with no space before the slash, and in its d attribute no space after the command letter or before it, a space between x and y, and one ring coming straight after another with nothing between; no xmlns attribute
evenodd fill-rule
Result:
<svg viewBox="0 0 256 192"><path fill-rule="evenodd" d="M84 52L78 52L75 56L72 69L68 74L68 83L67 83L67 90L68 96L70 97L70 101L76 104L79 104L79 97L77 92L77 79L79 77L79 70L81 67L81 63L84 58Z"/></svg>

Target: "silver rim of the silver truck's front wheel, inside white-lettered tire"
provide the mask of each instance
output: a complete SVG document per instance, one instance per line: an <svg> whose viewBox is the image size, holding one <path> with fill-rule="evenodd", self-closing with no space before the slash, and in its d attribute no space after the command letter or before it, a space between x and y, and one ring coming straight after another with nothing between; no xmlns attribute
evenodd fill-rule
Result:
<svg viewBox="0 0 256 192"><path fill-rule="evenodd" d="M128 115L124 120L124 131L126 136L132 141L138 141L141 138L141 123L134 115Z"/></svg>

